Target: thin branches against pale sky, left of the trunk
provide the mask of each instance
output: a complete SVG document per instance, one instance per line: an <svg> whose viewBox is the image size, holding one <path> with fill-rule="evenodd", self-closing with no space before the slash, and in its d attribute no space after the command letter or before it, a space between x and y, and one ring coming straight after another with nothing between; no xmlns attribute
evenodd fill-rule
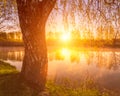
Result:
<svg viewBox="0 0 120 96"><path fill-rule="evenodd" d="M15 0L0 0L0 31L8 31L16 26Z"/></svg>

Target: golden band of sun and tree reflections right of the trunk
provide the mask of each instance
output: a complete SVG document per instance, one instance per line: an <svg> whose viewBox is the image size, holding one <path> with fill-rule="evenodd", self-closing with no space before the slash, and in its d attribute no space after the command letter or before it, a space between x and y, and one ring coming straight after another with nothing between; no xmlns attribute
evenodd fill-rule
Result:
<svg viewBox="0 0 120 96"><path fill-rule="evenodd" d="M49 53L49 61L66 61L77 64L96 65L98 68L118 70L120 66L120 51L90 51L70 50L62 48Z"/></svg>

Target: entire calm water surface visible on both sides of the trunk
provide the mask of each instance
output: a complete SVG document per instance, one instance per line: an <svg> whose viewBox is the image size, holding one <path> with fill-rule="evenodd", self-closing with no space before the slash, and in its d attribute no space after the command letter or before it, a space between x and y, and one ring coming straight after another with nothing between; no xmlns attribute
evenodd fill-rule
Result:
<svg viewBox="0 0 120 96"><path fill-rule="evenodd" d="M0 59L21 70L24 48L0 47ZM101 86L120 89L120 49L48 48L48 78L93 78Z"/></svg>

